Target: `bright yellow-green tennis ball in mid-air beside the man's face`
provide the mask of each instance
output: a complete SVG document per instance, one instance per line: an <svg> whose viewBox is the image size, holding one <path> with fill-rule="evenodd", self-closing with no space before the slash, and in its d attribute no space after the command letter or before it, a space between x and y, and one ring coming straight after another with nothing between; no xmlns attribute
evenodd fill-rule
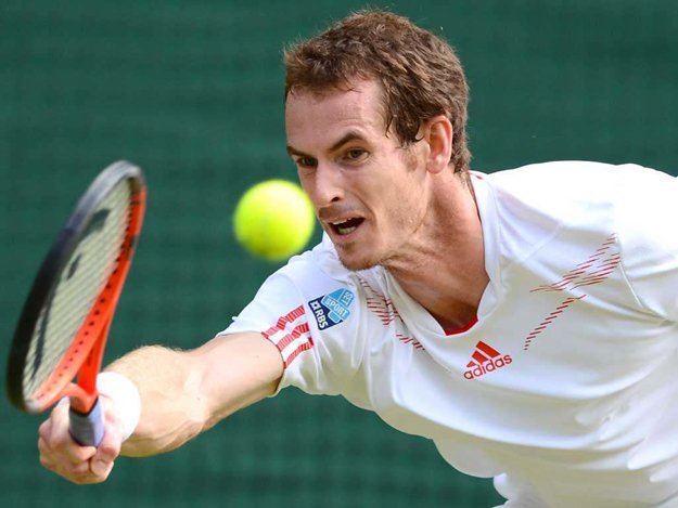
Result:
<svg viewBox="0 0 678 508"><path fill-rule="evenodd" d="M314 234L315 224L308 196L286 180L267 180L250 187L233 214L238 242L269 261L299 252Z"/></svg>

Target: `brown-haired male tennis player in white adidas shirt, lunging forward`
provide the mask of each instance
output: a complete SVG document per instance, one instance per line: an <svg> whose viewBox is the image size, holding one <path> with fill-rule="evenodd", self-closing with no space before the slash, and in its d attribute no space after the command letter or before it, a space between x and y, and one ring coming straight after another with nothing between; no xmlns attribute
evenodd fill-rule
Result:
<svg viewBox="0 0 678 508"><path fill-rule="evenodd" d="M391 13L285 63L287 152L322 243L204 346L114 362L102 445L77 446L59 406L42 464L100 482L120 453L295 386L433 440L504 506L678 506L678 182L583 161L471 171L457 56Z"/></svg>

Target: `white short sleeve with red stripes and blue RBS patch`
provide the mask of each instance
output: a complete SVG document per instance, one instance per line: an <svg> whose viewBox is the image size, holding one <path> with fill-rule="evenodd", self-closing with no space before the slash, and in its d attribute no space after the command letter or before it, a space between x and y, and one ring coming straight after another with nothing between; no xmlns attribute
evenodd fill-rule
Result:
<svg viewBox="0 0 678 508"><path fill-rule="evenodd" d="M362 362L363 334L356 288L297 260L271 275L254 300L219 335L255 331L280 352L278 391L340 394Z"/></svg>

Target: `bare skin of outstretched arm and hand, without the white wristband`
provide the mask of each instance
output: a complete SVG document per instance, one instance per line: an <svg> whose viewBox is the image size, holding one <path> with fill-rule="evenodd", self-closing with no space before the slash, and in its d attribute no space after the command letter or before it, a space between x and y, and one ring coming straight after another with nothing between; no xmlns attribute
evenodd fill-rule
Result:
<svg viewBox="0 0 678 508"><path fill-rule="evenodd" d="M149 456L181 446L228 415L274 393L282 360L256 333L216 337L191 351L138 349L106 370L128 377L141 396L141 417L121 443L115 405L102 396L105 435L98 448L68 435L66 406L54 408L39 431L40 461L75 483L104 481L118 455Z"/></svg>

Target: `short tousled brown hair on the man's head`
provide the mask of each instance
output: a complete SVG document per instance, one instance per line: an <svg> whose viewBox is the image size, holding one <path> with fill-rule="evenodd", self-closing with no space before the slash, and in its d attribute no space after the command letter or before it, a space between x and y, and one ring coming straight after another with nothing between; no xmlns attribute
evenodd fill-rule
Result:
<svg viewBox="0 0 678 508"><path fill-rule="evenodd" d="M455 172L468 170L469 86L455 50L408 18L386 11L359 11L284 52L285 101L295 90L349 90L355 79L383 89L386 133L419 141L421 125L436 115L452 123Z"/></svg>

